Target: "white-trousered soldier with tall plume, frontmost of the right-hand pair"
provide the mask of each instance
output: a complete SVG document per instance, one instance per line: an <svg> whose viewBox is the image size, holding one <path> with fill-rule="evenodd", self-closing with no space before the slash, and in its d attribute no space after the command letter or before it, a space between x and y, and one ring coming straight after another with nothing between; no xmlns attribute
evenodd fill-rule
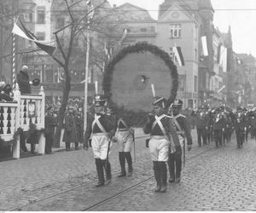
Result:
<svg viewBox="0 0 256 213"><path fill-rule="evenodd" d="M165 193L167 188L166 162L169 149L174 153L175 151L179 152L181 147L172 118L165 114L166 99L154 97L153 106L154 113L148 114L148 122L143 131L145 134L150 134L148 147L153 160L156 180L154 192Z"/></svg>

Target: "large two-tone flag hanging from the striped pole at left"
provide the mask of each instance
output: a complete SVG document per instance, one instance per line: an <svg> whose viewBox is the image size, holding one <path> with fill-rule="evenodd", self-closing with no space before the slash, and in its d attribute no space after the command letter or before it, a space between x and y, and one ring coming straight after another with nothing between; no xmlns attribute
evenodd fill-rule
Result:
<svg viewBox="0 0 256 213"><path fill-rule="evenodd" d="M18 26L18 22L20 26ZM39 49L44 50L49 55L52 55L55 51L55 46L50 45L51 42L39 41L38 38L32 32L28 31L23 23L19 20L15 22L12 33L36 43Z"/></svg>

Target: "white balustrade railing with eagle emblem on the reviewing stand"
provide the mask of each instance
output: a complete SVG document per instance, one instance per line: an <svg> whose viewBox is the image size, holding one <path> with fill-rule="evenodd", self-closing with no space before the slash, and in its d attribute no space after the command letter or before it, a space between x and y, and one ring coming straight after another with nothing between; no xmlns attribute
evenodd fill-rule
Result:
<svg viewBox="0 0 256 213"><path fill-rule="evenodd" d="M30 129L35 124L37 130L44 129L45 95L43 86L38 95L20 95L18 86L13 102L0 102L0 136L3 141L15 140L15 132L21 128ZM44 154L45 139L42 131L38 141L38 153ZM20 158L20 136L13 144L13 158Z"/></svg>

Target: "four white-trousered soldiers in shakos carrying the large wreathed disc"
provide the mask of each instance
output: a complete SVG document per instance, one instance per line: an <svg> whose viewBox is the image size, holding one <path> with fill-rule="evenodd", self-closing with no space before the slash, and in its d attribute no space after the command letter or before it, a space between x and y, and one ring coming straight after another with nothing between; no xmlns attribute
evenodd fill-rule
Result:
<svg viewBox="0 0 256 213"><path fill-rule="evenodd" d="M166 102L163 97L154 97L152 112L148 113L147 122L143 128L144 133L150 135L146 147L153 161L156 180L154 191L161 193L165 193L167 188L167 165L170 173L169 182L181 180L185 137L188 151L192 147L188 122L180 113L183 101L176 99L168 108L166 108ZM95 95L94 115L88 118L84 135L84 149L91 147L95 158L98 176L96 187L108 185L112 179L108 154L114 141L119 145L121 171L118 177L132 176L133 172L131 149L134 146L135 136L134 130L131 129L131 122L125 116L118 114L113 116L106 110L106 104L107 100L103 95Z"/></svg>

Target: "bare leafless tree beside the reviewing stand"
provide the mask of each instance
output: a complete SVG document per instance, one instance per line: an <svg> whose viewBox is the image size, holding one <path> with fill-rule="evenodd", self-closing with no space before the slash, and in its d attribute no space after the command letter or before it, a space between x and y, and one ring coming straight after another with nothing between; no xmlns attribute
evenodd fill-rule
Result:
<svg viewBox="0 0 256 213"><path fill-rule="evenodd" d="M95 0L100 1L100 0ZM95 3L94 2L94 3ZM112 9L108 7L106 0L95 3L93 9L89 9L88 1L77 0L54 1L53 17L63 17L65 25L54 32L57 50L54 55L50 55L64 71L65 83L62 88L62 102L59 110L58 128L55 134L55 146L59 146L61 127L67 107L67 101L71 89L70 72L75 66L83 65L85 60L86 39L85 36L88 23L90 23L90 35L96 40L96 45L90 48L90 66L96 66L103 70L104 61L108 60L104 54L104 40L108 37L108 46L115 45L113 40L118 40L118 24L113 24ZM93 19L91 14L93 13ZM90 19L90 22L87 21ZM112 23L109 25L109 23ZM111 41L111 43L110 43ZM116 42L117 43L117 42ZM82 59L82 60L81 60ZM85 79L87 80L87 79Z"/></svg>

